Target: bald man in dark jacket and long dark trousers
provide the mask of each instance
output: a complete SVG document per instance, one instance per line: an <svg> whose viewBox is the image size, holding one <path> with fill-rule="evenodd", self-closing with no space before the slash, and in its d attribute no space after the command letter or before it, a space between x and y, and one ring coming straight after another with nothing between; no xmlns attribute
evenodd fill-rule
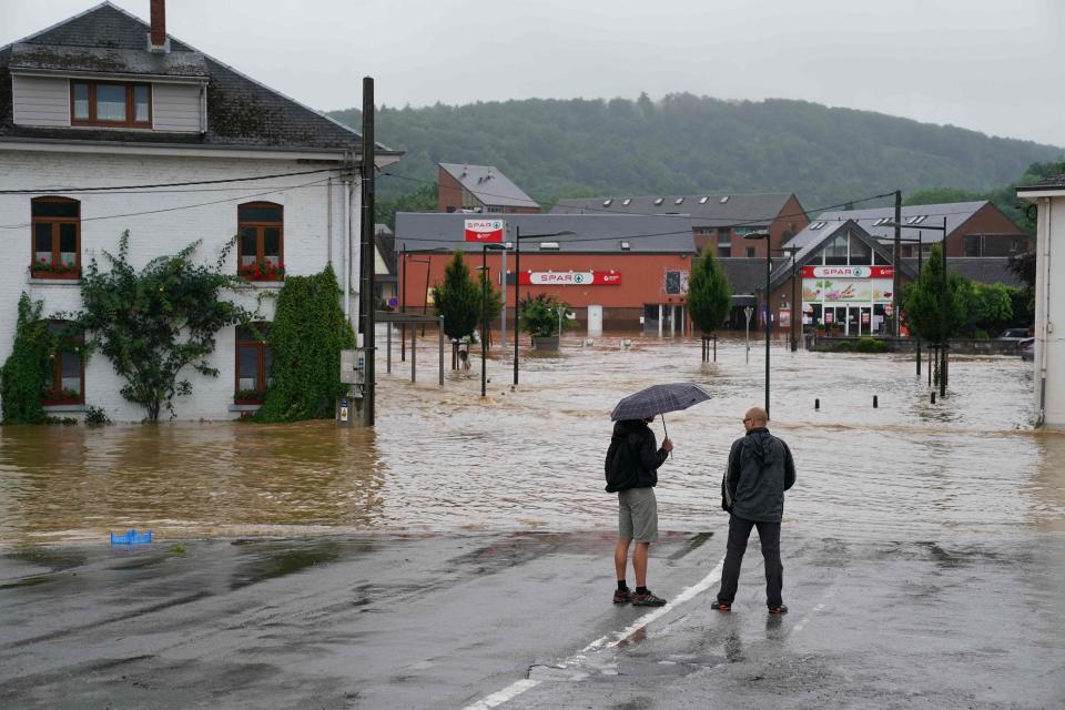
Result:
<svg viewBox="0 0 1065 710"><path fill-rule="evenodd" d="M780 561L780 521L784 491L795 483L791 449L769 433L765 410L754 407L743 417L747 436L732 443L721 481L722 506L729 510L729 542L714 608L729 611L740 582L740 565L751 528L758 528L765 561L765 604L770 613L787 613L781 598L784 567Z"/></svg>

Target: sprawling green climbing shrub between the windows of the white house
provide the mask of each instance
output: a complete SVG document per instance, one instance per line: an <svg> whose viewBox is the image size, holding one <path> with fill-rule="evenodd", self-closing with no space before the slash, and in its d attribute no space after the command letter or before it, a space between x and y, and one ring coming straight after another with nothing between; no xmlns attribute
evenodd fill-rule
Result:
<svg viewBox="0 0 1065 710"><path fill-rule="evenodd" d="M192 392L191 382L179 379L184 368L217 377L209 361L215 334L248 318L244 308L221 298L224 290L243 287L235 275L222 273L229 250L207 266L192 262L199 245L159 256L138 273L128 258L125 231L118 254L103 252L110 270L100 271L93 257L81 277L78 322L91 333L89 347L108 356L125 381L120 393L143 406L150 422L158 422L164 407L173 415L173 398Z"/></svg>

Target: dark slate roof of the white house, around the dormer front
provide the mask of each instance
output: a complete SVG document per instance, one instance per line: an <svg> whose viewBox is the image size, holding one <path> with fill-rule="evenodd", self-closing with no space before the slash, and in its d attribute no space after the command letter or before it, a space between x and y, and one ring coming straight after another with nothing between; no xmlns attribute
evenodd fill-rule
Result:
<svg viewBox="0 0 1065 710"><path fill-rule="evenodd" d="M176 39L170 38L170 54L152 55L146 50L149 23L110 2L103 2L0 48L0 141L57 140L358 151L362 139L357 131L248 79ZM75 65L75 60L84 61L84 64ZM93 72L205 77L207 131L199 134L14 125L10 71L19 68L62 71L84 68ZM377 150L395 154L381 144Z"/></svg>

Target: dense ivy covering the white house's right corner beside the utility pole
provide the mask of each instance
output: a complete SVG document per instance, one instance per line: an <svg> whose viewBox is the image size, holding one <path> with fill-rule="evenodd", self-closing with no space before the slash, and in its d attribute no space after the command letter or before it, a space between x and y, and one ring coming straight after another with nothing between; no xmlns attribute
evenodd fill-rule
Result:
<svg viewBox="0 0 1065 710"><path fill-rule="evenodd" d="M341 308L332 266L313 276L286 276L270 327L274 353L266 400L256 422L326 419L341 384L341 351L355 347L355 332Z"/></svg>

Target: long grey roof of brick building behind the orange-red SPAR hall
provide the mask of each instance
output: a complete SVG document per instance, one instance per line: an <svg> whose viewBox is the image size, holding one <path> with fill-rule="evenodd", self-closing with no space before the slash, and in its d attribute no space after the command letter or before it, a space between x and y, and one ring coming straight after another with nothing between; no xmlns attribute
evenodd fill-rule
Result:
<svg viewBox="0 0 1065 710"><path fill-rule="evenodd" d="M694 227L764 227L780 215L789 192L717 195L617 195L559 200L551 214L689 214ZM724 202L722 199L727 197ZM659 204L655 204L661 200ZM680 200L678 204L677 201ZM609 204L608 204L609 201ZM628 204L625 202L628 201ZM794 215L798 219L801 215Z"/></svg>

